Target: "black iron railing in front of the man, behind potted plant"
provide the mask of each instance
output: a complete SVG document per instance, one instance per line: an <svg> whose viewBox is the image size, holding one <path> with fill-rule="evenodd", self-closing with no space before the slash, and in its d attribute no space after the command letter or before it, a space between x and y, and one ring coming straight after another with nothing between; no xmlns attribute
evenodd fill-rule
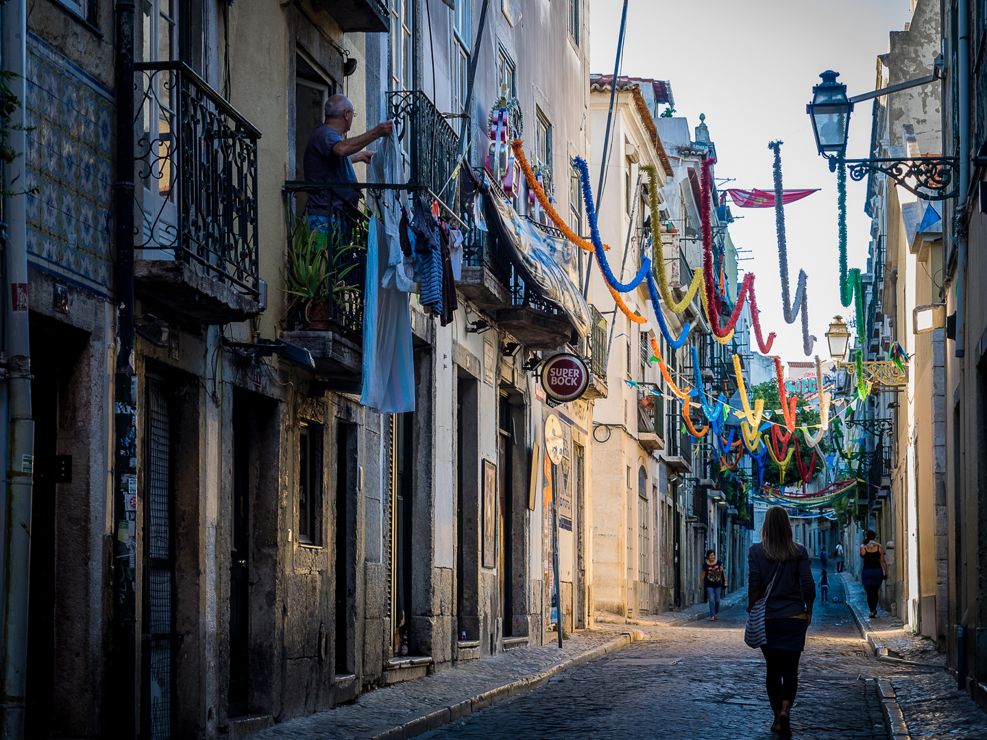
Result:
<svg viewBox="0 0 987 740"><path fill-rule="evenodd" d="M369 185L383 188L386 185ZM282 188L289 264L292 251L310 247L307 262L324 270L320 297L305 300L296 320L317 329L363 335L368 222L350 203L354 190L321 183L285 183ZM308 242L307 240L311 240ZM291 276L288 288L291 288ZM289 318L290 320L290 318Z"/></svg>

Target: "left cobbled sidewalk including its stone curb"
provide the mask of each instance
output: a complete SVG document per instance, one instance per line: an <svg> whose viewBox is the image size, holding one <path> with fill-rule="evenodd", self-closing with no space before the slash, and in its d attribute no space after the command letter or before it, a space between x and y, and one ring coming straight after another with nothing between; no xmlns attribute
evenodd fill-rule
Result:
<svg viewBox="0 0 987 740"><path fill-rule="evenodd" d="M252 734L251 740L404 740L485 706L542 686L555 675L640 640L637 629L605 625L556 642L497 655L361 695L354 703L297 717Z"/></svg>

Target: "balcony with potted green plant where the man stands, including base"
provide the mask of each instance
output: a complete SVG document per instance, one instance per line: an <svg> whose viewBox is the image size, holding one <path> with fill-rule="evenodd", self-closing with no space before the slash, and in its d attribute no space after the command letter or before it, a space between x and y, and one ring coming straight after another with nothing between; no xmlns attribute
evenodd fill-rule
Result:
<svg viewBox="0 0 987 740"><path fill-rule="evenodd" d="M350 204L350 188L286 183L282 193L289 301L281 338L309 350L316 373L332 390L357 393L363 362L367 219Z"/></svg>

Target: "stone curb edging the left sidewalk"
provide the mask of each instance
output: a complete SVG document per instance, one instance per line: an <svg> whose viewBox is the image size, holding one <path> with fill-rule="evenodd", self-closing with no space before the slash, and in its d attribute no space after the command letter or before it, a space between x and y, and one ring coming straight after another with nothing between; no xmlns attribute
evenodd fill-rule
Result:
<svg viewBox="0 0 987 740"><path fill-rule="evenodd" d="M415 737L423 732L433 730L436 727L441 727L443 724L454 722L467 714L480 711L480 709L486 708L497 702L502 702L505 699L510 699L512 697L525 694L532 689L537 689L547 684L549 679L553 676L563 673L564 671L568 671L569 668L574 668L575 666L582 665L583 663L588 663L596 658L606 655L607 653L618 650L625 645L629 645L632 642L643 639L645 639L645 633L643 631L640 629L632 629L625 632L617 639L598 645L592 650L587 650L578 655L574 655L568 660L565 660L562 663L543 671L542 673L535 674L534 676L528 676L523 679L518 679L517 681L512 681L509 684L498 686L496 689L484 692L478 696L468 697L459 702L424 712L416 717L413 717L412 719L409 719L399 727L377 727L364 735L360 735L359 740L407 740L407 738Z"/></svg>

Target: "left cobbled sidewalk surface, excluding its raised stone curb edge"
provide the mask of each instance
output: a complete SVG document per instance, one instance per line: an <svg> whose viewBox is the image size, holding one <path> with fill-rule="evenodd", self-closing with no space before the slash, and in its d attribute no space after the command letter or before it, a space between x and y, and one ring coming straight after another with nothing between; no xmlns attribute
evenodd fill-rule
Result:
<svg viewBox="0 0 987 740"><path fill-rule="evenodd" d="M431 676L367 692L354 703L291 719L254 733L250 738L350 740L373 736L399 727L429 709L477 697L513 681L547 671L569 658L618 639L631 629L604 625L576 631L565 640L562 649L555 642L515 647Z"/></svg>

